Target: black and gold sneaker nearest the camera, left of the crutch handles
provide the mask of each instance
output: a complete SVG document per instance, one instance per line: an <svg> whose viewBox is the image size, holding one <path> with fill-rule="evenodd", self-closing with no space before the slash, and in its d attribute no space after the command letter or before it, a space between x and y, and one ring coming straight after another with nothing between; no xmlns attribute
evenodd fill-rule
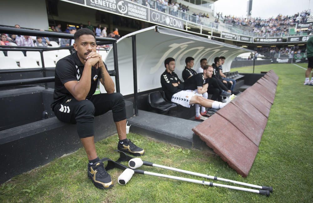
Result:
<svg viewBox="0 0 313 203"><path fill-rule="evenodd" d="M99 189L109 189L114 186L110 174L104 168L103 162L88 163L88 178Z"/></svg>

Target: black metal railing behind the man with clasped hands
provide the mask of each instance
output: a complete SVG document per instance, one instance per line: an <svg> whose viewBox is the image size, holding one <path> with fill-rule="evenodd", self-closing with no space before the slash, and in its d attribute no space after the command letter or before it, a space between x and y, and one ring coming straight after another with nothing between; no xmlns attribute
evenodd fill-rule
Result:
<svg viewBox="0 0 313 203"><path fill-rule="evenodd" d="M6 34L19 34L27 36L38 36L38 37L56 37L63 39L74 39L73 34L59 33L59 32L49 32L49 31L38 31L30 29L19 29L12 27L0 27L0 33ZM113 57L114 57L114 70L108 71L110 76L115 76L115 87L116 92L120 92L119 74L118 74L118 62L117 62L117 45L116 40L113 38L96 37L98 45L112 44L113 45ZM25 68L25 69L2 69L0 73L16 73L16 72L43 72L43 77L41 78L29 78L22 80L9 80L0 81L0 87L9 87L17 85L28 85L28 84L38 84L45 83L45 88L48 88L47 82L54 82L54 77L46 77L46 71L54 71L55 68L46 68L44 65L44 55L43 52L54 51L60 49L73 49L73 46L66 47L20 47L20 46L0 46L0 51L39 51L41 57L41 68Z"/></svg>

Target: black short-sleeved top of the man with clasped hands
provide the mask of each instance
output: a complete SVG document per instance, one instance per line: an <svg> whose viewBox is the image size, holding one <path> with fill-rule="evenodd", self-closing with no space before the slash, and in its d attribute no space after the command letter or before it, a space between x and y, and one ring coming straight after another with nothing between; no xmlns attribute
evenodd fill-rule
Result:
<svg viewBox="0 0 313 203"><path fill-rule="evenodd" d="M104 64L105 65L105 64ZM77 52L60 59L55 67L55 79L54 79L54 101L51 104L52 110L58 103L62 103L63 100L71 96L71 93L65 88L64 83L69 81L80 81L85 65L80 61L77 56ZM107 69L106 65L105 68ZM88 99L95 93L97 88L98 79L101 78L100 68L96 69L91 67L91 86L90 91L86 97Z"/></svg>

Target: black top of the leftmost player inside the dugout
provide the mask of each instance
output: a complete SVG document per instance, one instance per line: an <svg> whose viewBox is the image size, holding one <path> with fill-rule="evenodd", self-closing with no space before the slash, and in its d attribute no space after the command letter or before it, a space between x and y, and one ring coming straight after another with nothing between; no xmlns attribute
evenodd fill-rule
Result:
<svg viewBox="0 0 313 203"><path fill-rule="evenodd" d="M177 87L174 87L172 83L180 83ZM161 75L162 90L165 93L165 97L168 101L171 101L173 94L180 92L184 89L182 81L179 79L175 72L169 73L165 70Z"/></svg>

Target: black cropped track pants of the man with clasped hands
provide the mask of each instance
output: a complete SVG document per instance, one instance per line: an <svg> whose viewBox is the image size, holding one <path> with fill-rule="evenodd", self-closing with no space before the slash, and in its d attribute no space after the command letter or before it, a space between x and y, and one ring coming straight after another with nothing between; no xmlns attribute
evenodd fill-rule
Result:
<svg viewBox="0 0 313 203"><path fill-rule="evenodd" d="M95 116L112 110L114 122L126 119L125 101L120 93L97 94L81 101L67 97L62 103L55 105L53 110L60 121L77 124L80 138L95 134Z"/></svg>

